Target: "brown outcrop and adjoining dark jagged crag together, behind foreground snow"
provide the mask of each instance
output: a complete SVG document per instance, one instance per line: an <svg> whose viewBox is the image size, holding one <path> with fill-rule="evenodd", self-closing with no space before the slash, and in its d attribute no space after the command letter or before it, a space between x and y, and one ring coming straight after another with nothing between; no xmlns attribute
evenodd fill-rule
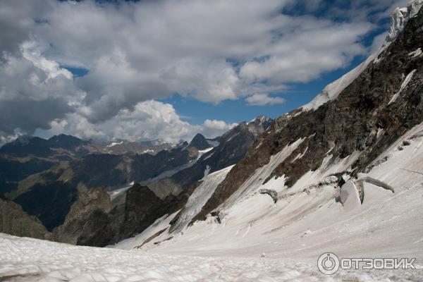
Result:
<svg viewBox="0 0 423 282"><path fill-rule="evenodd" d="M166 214L172 214L188 201L197 183L177 196L164 200L147 186L135 184L125 202L111 207L106 190L91 190L73 204L62 226L54 229L53 238L75 245L104 247L133 237Z"/></svg>

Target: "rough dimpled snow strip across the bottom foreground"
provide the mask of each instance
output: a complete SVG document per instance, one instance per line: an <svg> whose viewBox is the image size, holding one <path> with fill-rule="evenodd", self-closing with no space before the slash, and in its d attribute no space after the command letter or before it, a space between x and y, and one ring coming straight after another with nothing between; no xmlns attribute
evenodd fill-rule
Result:
<svg viewBox="0 0 423 282"><path fill-rule="evenodd" d="M1 281L418 281L423 271L418 269L411 274L399 271L398 274L339 271L333 278L320 274L312 261L159 255L73 246L0 233Z"/></svg>

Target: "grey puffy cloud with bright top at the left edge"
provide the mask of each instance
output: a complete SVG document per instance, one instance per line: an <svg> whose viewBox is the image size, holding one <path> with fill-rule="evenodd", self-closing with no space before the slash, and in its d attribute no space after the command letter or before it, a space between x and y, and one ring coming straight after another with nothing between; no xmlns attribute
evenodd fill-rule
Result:
<svg viewBox="0 0 423 282"><path fill-rule="evenodd" d="M0 132L32 134L49 128L50 121L75 111L83 94L65 75L37 68L25 58L4 56L0 67Z"/></svg>

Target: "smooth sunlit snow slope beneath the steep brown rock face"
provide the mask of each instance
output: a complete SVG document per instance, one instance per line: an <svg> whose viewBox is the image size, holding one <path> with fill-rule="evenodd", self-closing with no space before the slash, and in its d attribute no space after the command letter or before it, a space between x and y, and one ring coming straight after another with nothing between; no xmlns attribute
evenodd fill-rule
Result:
<svg viewBox="0 0 423 282"><path fill-rule="evenodd" d="M304 263L309 259L314 262L329 251L340 257L415 257L417 270L352 270L348 275L353 281L422 281L423 123L400 137L374 161L376 166L369 173L360 176L381 180L395 192L364 183L364 202L353 209L336 201L340 189L325 180L333 173L350 171L360 152L335 161L328 152L319 169L305 173L289 189L284 176L264 183L301 142L297 140L273 156L265 169L257 169L236 196L219 208L220 223L209 215L206 221L197 221L181 233L164 232L139 250L252 259L266 253L266 259ZM278 202L260 194L260 189L278 192ZM167 228L175 215L168 216L152 233ZM148 238L149 234L143 236ZM141 245L142 240L137 243ZM130 250L133 244L114 247ZM337 273L332 278L336 281L345 278L343 275Z"/></svg>

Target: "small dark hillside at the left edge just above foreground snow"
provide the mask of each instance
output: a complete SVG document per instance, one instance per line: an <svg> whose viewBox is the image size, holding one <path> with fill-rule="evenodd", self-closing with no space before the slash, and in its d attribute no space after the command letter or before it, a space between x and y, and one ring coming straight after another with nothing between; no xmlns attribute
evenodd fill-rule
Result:
<svg viewBox="0 0 423 282"><path fill-rule="evenodd" d="M0 233L38 239L49 239L50 235L39 219L23 212L18 204L1 198Z"/></svg>

